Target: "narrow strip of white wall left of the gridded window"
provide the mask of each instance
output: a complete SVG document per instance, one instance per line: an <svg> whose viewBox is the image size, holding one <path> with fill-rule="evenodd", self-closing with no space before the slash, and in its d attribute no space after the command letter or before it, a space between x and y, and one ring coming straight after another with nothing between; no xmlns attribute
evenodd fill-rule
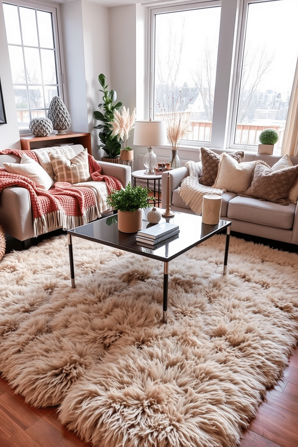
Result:
<svg viewBox="0 0 298 447"><path fill-rule="evenodd" d="M0 150L21 149L2 2L0 7L0 80L7 121L7 124L0 124Z"/></svg>

